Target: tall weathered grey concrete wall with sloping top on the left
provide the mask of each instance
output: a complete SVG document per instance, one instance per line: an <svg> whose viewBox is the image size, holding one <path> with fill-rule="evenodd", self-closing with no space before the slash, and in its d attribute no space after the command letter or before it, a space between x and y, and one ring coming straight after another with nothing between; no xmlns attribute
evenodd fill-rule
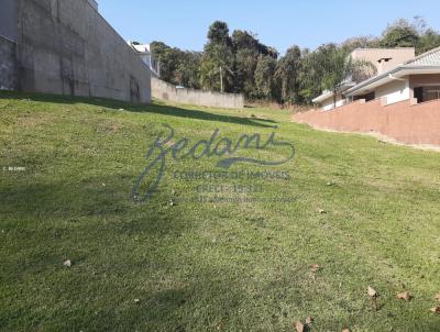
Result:
<svg viewBox="0 0 440 332"><path fill-rule="evenodd" d="M88 0L15 1L16 89L150 102L150 69Z"/></svg>

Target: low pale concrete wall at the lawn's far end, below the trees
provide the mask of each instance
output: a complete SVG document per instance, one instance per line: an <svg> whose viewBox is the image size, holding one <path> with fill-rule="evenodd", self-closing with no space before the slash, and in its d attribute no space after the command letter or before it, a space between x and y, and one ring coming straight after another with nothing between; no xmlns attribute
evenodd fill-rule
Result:
<svg viewBox="0 0 440 332"><path fill-rule="evenodd" d="M218 107L226 109L244 108L244 96L235 93L219 93L194 89L176 89L175 86L152 77L152 95L154 98L178 103Z"/></svg>

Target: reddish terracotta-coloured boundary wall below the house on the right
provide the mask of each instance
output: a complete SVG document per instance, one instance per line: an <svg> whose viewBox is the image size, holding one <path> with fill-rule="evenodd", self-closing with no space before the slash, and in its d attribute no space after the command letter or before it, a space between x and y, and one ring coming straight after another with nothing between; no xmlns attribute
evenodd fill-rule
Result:
<svg viewBox="0 0 440 332"><path fill-rule="evenodd" d="M408 100L382 106L381 100L356 101L331 110L295 114L294 121L317 129L375 132L406 144L440 146L440 100L410 104Z"/></svg>

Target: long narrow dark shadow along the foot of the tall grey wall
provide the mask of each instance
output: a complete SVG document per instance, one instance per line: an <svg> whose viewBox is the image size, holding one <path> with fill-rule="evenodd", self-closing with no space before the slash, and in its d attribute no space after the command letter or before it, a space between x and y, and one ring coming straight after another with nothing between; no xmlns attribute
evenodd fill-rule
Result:
<svg viewBox="0 0 440 332"><path fill-rule="evenodd" d="M131 103L131 102L110 100L103 98L84 98L84 97L43 95L43 93L22 93L22 92L10 92L10 91L0 91L0 99L14 99L14 100L30 99L32 101L38 101L38 102L52 102L52 103L64 103L64 104L88 103L113 110L123 109L124 111L136 112L136 113L156 113L156 114L178 117L185 119L226 122L226 123L234 123L242 125L253 125L260 128L277 128L277 122L273 120L248 119L243 117L216 114L216 113L210 113L208 111L188 110L178 107L160 104L157 102L152 104L141 104L141 103Z"/></svg>

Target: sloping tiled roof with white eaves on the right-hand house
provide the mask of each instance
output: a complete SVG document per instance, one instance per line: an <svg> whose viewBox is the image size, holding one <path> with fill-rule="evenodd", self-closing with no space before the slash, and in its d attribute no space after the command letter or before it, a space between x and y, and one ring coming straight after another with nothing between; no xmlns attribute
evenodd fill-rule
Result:
<svg viewBox="0 0 440 332"><path fill-rule="evenodd" d="M416 74L440 74L440 47L433 48L404 63L400 66L364 80L359 85L348 89L344 95L356 96L367 93L372 89L399 79L403 76Z"/></svg>

